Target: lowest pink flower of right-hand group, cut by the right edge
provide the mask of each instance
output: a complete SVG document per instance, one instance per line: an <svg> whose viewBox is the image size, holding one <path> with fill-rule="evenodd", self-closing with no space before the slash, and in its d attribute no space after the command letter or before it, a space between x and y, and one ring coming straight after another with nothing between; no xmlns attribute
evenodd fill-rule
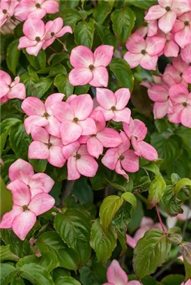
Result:
<svg viewBox="0 0 191 285"><path fill-rule="evenodd" d="M169 96L174 110L169 115L169 121L191 128L191 92L185 86L176 84L169 89Z"/></svg>

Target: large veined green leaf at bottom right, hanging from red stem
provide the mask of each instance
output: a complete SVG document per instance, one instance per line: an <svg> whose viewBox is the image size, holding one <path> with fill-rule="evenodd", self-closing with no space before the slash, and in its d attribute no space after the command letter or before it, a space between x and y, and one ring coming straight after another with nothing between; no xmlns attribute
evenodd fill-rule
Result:
<svg viewBox="0 0 191 285"><path fill-rule="evenodd" d="M144 234L133 254L133 267L139 279L151 275L162 266L169 256L171 243L160 229L151 229Z"/></svg>

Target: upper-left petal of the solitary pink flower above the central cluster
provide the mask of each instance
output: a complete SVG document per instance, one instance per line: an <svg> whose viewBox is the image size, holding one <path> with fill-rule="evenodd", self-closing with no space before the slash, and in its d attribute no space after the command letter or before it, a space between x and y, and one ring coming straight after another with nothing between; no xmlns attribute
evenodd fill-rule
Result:
<svg viewBox="0 0 191 285"><path fill-rule="evenodd" d="M70 63L73 67L88 68L89 65L93 65L94 63L93 52L88 47L84 47L82 45L75 47L71 51Z"/></svg>

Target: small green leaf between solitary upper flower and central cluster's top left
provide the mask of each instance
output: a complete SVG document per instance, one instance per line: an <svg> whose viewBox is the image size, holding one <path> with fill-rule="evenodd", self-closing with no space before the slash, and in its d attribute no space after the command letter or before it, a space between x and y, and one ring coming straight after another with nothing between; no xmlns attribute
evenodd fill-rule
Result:
<svg viewBox="0 0 191 285"><path fill-rule="evenodd" d="M73 94L74 87L68 81L68 75L58 74L54 79L54 86L67 97Z"/></svg>

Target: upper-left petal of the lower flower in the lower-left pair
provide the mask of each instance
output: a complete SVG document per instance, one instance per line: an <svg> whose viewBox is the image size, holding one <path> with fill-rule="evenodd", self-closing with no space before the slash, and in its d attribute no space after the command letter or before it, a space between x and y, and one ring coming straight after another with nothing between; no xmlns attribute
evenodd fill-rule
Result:
<svg viewBox="0 0 191 285"><path fill-rule="evenodd" d="M8 184L7 188L12 192L14 205L24 206L29 204L31 200L31 192L24 182L15 180Z"/></svg>

